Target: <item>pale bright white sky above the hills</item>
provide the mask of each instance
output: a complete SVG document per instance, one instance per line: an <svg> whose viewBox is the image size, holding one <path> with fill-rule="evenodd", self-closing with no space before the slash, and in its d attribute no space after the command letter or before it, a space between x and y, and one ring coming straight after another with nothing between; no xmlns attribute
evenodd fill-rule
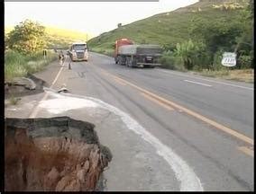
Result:
<svg viewBox="0 0 256 194"><path fill-rule="evenodd" d="M97 36L105 31L142 20L157 13L195 4L198 0L159 2L5 2L5 27L25 19L45 26L83 31Z"/></svg>

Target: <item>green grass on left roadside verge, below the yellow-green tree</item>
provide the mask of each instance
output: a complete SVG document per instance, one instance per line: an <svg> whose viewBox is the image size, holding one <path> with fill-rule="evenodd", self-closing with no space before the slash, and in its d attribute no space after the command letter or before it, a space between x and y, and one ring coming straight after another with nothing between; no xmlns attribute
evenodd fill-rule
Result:
<svg viewBox="0 0 256 194"><path fill-rule="evenodd" d="M11 81L14 77L23 77L41 71L51 61L57 59L56 53L48 51L44 59L42 52L31 56L23 56L13 50L5 52L5 81Z"/></svg>

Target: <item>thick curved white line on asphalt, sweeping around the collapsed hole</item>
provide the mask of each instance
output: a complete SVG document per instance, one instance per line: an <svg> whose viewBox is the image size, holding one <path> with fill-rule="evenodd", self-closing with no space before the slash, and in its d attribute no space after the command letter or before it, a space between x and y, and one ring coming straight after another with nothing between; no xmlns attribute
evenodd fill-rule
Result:
<svg viewBox="0 0 256 194"><path fill-rule="evenodd" d="M150 143L156 149L157 154L159 154L167 161L167 163L169 163L178 181L180 181L180 191L204 190L200 179L197 177L197 174L193 171L193 169L191 169L188 164L182 158L180 158L178 154L176 154L169 146L163 145L157 137L151 135L149 131L143 128L135 119L130 117L127 113L106 103L105 101L101 101L93 97L85 97L70 93L53 93L53 95L65 95L95 101L96 103L102 105L102 108L112 111L115 115L119 116L123 120L123 123L127 126L127 128L133 130L134 133L138 134L145 141Z"/></svg>

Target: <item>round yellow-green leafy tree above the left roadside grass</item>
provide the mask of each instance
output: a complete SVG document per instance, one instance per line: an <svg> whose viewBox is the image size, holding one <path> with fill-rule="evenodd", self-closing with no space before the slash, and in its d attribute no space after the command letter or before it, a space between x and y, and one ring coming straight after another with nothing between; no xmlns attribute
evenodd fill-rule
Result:
<svg viewBox="0 0 256 194"><path fill-rule="evenodd" d="M8 37L8 47L23 54L31 54L45 47L45 27L38 22L20 22L8 33Z"/></svg>

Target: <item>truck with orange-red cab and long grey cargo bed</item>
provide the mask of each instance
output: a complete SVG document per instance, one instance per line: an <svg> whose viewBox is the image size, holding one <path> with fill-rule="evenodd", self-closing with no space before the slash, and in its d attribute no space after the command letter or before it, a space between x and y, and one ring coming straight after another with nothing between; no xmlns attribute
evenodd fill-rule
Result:
<svg viewBox="0 0 256 194"><path fill-rule="evenodd" d="M133 41L117 40L115 42L115 63L125 65L128 67L133 66L160 66L160 56L162 49L159 45L142 44L135 45Z"/></svg>

